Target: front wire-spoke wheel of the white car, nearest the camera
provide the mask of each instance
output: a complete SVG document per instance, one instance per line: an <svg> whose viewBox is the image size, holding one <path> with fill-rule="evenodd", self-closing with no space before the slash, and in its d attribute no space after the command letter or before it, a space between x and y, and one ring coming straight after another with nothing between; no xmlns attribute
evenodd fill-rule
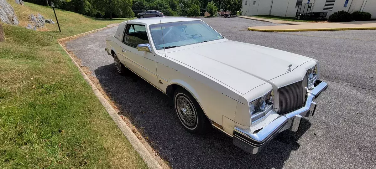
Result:
<svg viewBox="0 0 376 169"><path fill-rule="evenodd" d="M193 104L184 96L179 96L176 99L177 114L183 123L189 127L193 127L197 121L196 111Z"/></svg>

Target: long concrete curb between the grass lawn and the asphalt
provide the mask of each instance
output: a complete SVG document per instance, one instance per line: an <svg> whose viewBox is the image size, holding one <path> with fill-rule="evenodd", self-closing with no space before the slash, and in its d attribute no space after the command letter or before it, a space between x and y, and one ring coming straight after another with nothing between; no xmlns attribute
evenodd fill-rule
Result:
<svg viewBox="0 0 376 169"><path fill-rule="evenodd" d="M95 84L90 80L90 78L85 74L85 72L81 69L81 67L77 64L77 62L73 59L73 57L68 53L67 50L61 45L60 41L65 41L67 39L76 38L78 36L87 35L89 33L97 32L99 30L107 29L109 27L104 27L96 30L92 30L85 33L80 33L78 35L73 35L67 38L58 39L59 45L64 49L65 53L68 54L68 56L71 58L74 65L77 66L77 68L80 70L83 78L85 81L90 84L92 91L99 99L100 103L102 103L103 107L105 107L108 114L111 116L112 120L116 123L118 128L123 132L124 136L129 140L129 142L132 144L133 148L138 152L140 157L143 159L145 164L150 169L162 169L161 165L155 160L152 154L146 149L146 147L141 143L141 141L136 137L136 135L132 132L132 130L127 126L127 124L121 119L121 117L116 113L114 108L111 106L110 103L106 100L106 98L100 93L98 88L95 86Z"/></svg>

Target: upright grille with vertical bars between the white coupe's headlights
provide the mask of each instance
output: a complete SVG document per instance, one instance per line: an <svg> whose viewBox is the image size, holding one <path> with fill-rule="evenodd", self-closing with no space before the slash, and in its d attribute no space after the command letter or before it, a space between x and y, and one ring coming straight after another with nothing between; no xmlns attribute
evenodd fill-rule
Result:
<svg viewBox="0 0 376 169"><path fill-rule="evenodd" d="M288 113L302 107L305 97L304 89L303 81L279 88L279 114Z"/></svg>

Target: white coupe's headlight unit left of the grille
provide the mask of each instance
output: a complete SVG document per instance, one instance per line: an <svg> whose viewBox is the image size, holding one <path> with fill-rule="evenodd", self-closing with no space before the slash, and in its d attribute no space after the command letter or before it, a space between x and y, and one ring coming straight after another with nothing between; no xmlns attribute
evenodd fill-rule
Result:
<svg viewBox="0 0 376 169"><path fill-rule="evenodd" d="M270 91L267 94L252 101L249 104L249 111L251 113L251 116L261 113L261 112L265 112L265 110L273 106L273 104L274 104L274 92Z"/></svg>

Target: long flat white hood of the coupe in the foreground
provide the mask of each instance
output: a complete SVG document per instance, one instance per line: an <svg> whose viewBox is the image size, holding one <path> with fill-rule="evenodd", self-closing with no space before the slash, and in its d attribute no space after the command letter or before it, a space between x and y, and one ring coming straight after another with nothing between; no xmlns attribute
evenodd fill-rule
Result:
<svg viewBox="0 0 376 169"><path fill-rule="evenodd" d="M212 41L214 42L214 41ZM309 57L287 51L236 41L204 42L198 47L183 46L166 56L215 78L230 88L246 94L267 81L288 73Z"/></svg>

